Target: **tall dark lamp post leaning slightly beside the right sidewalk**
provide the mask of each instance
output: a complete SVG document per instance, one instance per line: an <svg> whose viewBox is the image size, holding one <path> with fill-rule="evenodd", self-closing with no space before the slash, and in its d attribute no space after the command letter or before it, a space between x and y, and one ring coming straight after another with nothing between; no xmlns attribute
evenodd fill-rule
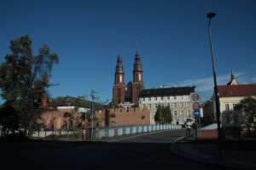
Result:
<svg viewBox="0 0 256 170"><path fill-rule="evenodd" d="M221 148L221 131L220 131L220 122L219 122L220 110L219 110L219 99L218 99L218 87L217 87L217 81L216 81L216 71L215 71L215 66L214 66L214 56L213 56L213 49L212 49L212 34L211 34L211 20L215 16L216 16L215 13L207 14L207 18L209 19L208 31L209 31L209 38L210 38L211 54L212 54L214 95L215 95L215 106L216 106L216 115L217 115L217 124L218 124L218 157L221 160L222 159L222 148Z"/></svg>

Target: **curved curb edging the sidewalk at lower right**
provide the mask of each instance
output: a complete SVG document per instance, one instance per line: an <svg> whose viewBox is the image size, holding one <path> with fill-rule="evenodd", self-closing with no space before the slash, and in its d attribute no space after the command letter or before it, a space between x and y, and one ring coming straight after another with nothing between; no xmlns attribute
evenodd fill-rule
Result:
<svg viewBox="0 0 256 170"><path fill-rule="evenodd" d="M177 156L181 156L190 161L197 161L197 162L205 163L207 165L211 165L214 167L226 167L226 168L240 169L240 170L241 169L242 170L254 170L255 169L255 167L246 167L246 165L239 165L239 164L234 165L234 163L219 161L218 158L213 159L212 161L210 161L210 160L208 161L208 160L205 160L203 157L192 156L187 153L184 153L183 150L179 149L178 144L177 144L177 143L181 142L183 139L187 139L186 136L176 139L175 142L170 146L169 149L172 151L173 154L175 154Z"/></svg>

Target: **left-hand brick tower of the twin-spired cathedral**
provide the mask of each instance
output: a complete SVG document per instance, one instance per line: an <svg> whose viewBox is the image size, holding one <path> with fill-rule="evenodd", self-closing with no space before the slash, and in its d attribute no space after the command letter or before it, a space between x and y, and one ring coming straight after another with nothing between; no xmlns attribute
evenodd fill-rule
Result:
<svg viewBox="0 0 256 170"><path fill-rule="evenodd" d="M114 72L113 102L115 104L125 103L125 73L120 54Z"/></svg>

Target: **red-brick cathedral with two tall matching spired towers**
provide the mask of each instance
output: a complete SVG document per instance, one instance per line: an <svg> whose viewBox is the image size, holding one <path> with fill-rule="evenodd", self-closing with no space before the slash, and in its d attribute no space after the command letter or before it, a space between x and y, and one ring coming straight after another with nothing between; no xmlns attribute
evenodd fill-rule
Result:
<svg viewBox="0 0 256 170"><path fill-rule="evenodd" d="M143 90L143 66L140 59L140 54L137 52L134 58L133 65L133 80L125 85L125 72L122 64L122 58L120 54L117 58L117 64L114 72L113 82L113 103L124 104L138 103L138 95Z"/></svg>

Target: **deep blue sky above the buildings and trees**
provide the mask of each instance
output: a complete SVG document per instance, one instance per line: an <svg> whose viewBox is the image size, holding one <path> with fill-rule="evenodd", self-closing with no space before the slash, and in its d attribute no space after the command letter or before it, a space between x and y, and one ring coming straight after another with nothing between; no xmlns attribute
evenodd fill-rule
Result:
<svg viewBox="0 0 256 170"><path fill-rule="evenodd" d="M114 67L120 46L125 82L132 80L139 42L145 88L193 86L203 100L212 95L212 65L207 13L218 84L256 83L256 1L254 0L1 0L0 61L9 41L28 34L34 53L44 43L59 54L49 88L52 97L112 99Z"/></svg>

